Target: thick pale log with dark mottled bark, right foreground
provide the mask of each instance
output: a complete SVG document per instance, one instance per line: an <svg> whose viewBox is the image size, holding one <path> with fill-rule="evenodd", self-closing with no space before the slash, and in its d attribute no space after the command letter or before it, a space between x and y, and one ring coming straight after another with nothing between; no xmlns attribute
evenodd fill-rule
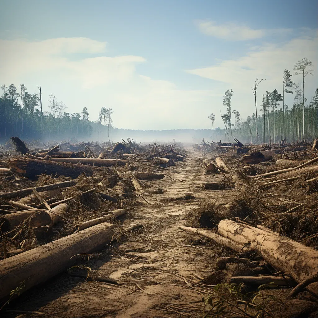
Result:
<svg viewBox="0 0 318 318"><path fill-rule="evenodd" d="M258 251L268 264L288 273L297 283L318 272L317 250L278 233L266 232L231 220L220 221L218 233L240 245L250 244L250 248ZM308 285L307 289L318 296L318 282Z"/></svg>

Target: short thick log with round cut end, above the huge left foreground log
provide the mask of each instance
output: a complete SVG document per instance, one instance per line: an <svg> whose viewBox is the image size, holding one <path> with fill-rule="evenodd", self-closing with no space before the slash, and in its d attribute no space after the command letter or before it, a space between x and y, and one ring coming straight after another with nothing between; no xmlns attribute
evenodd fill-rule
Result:
<svg viewBox="0 0 318 318"><path fill-rule="evenodd" d="M69 206L66 203L61 203L51 210L42 210L35 212L29 221L31 228L37 228L41 226L55 225L60 217L69 210Z"/></svg>

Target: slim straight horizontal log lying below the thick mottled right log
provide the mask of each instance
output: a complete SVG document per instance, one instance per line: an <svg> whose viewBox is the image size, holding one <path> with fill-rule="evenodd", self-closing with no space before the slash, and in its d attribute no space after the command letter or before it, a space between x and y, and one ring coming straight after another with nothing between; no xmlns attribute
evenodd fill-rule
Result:
<svg viewBox="0 0 318 318"><path fill-rule="evenodd" d="M244 283L247 285L263 285L274 283L279 286L293 286L294 280L290 277L277 277L277 276L233 276L230 278L230 284Z"/></svg>

